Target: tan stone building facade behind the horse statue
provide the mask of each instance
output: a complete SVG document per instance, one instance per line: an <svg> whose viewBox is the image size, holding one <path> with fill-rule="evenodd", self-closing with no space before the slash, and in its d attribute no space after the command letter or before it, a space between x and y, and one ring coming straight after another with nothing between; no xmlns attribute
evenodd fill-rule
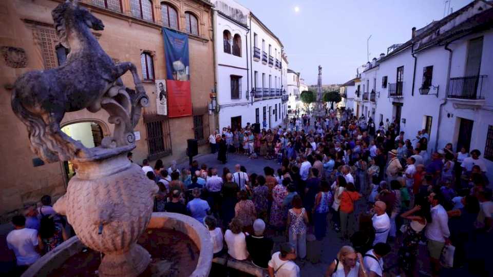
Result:
<svg viewBox="0 0 493 277"><path fill-rule="evenodd" d="M6 220L23 206L39 201L44 194L65 191L73 168L68 163L42 164L29 149L26 127L10 107L11 86L30 70L50 69L63 64L67 50L60 46L51 18L58 0L12 0L0 2L0 219ZM150 106L136 126L137 148L133 160L162 159L165 166L186 154L186 139L204 144L214 130L207 105L215 86L212 4L204 0L80 0L100 18L105 29L94 31L102 48L115 62L136 65ZM157 114L156 80L166 78L162 27L188 33L193 116L168 118ZM134 88L131 74L122 76ZM81 124L83 123L83 124ZM63 130L89 147L112 131L105 111L67 113ZM139 140L140 136L140 140ZM204 148L205 146L202 146ZM199 152L203 150L199 148Z"/></svg>

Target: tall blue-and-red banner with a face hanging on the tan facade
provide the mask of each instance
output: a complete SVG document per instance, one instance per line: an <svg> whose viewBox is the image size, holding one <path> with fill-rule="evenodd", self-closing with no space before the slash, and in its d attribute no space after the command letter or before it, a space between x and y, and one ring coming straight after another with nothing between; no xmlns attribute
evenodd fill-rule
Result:
<svg viewBox="0 0 493 277"><path fill-rule="evenodd" d="M192 115L188 35L163 28L168 116Z"/></svg>

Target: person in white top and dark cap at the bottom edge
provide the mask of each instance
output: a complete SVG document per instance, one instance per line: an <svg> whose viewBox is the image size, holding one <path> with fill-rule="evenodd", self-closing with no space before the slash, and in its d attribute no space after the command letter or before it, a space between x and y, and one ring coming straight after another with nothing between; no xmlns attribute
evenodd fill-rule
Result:
<svg viewBox="0 0 493 277"><path fill-rule="evenodd" d="M293 262L296 252L290 243L281 244L280 251L272 254L269 261L270 277L299 277L299 266Z"/></svg>

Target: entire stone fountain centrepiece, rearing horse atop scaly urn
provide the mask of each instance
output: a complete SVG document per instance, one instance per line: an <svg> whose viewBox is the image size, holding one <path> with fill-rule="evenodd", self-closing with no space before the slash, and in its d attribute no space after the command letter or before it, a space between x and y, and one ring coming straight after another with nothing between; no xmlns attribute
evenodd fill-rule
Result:
<svg viewBox="0 0 493 277"><path fill-rule="evenodd" d="M71 161L77 174L53 208L67 216L79 239L104 253L100 276L137 276L150 262L137 239L146 229L158 187L126 153L135 148L134 127L148 98L135 65L115 64L89 29L103 30L100 19L67 1L52 12L61 44L71 49L61 67L31 71L13 88L13 112L26 125L31 149L43 161ZM120 76L130 71L135 90ZM102 145L86 148L60 130L66 112L108 112L115 124Z"/></svg>

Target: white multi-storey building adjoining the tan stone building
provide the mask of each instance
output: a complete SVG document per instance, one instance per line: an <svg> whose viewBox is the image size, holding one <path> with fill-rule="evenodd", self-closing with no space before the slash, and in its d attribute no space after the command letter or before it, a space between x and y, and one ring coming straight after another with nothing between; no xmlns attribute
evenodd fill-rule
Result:
<svg viewBox="0 0 493 277"><path fill-rule="evenodd" d="M214 11L216 112L219 129L247 123L271 128L287 113L283 93L282 44L251 11L233 0L217 0ZM284 100L284 101L283 101Z"/></svg>

